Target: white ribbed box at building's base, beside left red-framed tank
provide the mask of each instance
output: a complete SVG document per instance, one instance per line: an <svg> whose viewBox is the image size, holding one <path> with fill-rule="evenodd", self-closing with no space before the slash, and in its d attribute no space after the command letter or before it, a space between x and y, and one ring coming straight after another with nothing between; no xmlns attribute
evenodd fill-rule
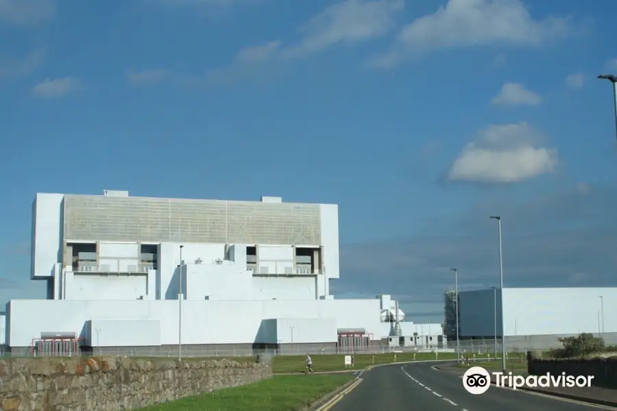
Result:
<svg viewBox="0 0 617 411"><path fill-rule="evenodd" d="M93 347L149 347L160 345L159 320L91 320L86 323Z"/></svg>

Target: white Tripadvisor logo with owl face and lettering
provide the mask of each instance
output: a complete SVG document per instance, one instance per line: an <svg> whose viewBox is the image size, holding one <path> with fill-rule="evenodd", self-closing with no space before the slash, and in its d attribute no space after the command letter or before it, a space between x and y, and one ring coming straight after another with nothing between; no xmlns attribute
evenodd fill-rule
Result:
<svg viewBox="0 0 617 411"><path fill-rule="evenodd" d="M491 381L498 387L516 388L546 388L546 387L590 387L592 386L593 375L512 375L512 373L504 374L501 371L489 373L481 366L472 366L463 374L463 387L470 394L484 394L491 386Z"/></svg>

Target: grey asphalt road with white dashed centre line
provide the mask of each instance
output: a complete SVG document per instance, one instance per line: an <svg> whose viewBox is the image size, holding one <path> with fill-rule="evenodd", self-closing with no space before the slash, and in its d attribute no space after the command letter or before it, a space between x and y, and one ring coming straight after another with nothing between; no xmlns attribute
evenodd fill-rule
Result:
<svg viewBox="0 0 617 411"><path fill-rule="evenodd" d="M492 386L481 395L465 391L461 377L431 368L435 364L381 366L330 411L591 411L599 406Z"/></svg>

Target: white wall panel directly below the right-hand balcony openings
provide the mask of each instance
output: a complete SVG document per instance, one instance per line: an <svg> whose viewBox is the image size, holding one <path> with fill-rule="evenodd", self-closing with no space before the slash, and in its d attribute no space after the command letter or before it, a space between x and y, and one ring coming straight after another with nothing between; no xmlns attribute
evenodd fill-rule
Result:
<svg viewBox="0 0 617 411"><path fill-rule="evenodd" d="M315 300L315 277L252 277L253 299Z"/></svg>

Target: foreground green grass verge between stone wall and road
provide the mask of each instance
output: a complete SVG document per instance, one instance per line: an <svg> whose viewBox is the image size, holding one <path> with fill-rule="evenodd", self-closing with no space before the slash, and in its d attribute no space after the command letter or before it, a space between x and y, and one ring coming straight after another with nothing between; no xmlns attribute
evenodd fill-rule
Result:
<svg viewBox="0 0 617 411"><path fill-rule="evenodd" d="M275 375L237 388L186 397L141 411L291 411L350 382L351 375Z"/></svg>

